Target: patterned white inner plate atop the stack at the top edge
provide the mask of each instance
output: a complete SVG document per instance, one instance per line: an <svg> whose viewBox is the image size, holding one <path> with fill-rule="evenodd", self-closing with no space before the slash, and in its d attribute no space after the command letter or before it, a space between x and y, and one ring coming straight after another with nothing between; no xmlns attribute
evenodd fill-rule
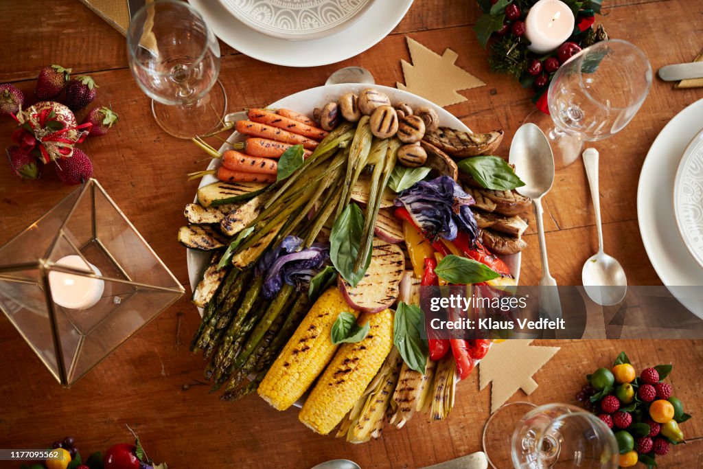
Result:
<svg viewBox="0 0 703 469"><path fill-rule="evenodd" d="M373 3L373 0L220 1L252 29L293 41L318 39L349 27Z"/></svg>

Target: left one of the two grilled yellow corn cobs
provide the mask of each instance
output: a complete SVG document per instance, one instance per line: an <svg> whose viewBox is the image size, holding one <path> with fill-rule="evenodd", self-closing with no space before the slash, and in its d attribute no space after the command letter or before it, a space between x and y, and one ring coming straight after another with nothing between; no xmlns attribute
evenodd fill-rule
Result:
<svg viewBox="0 0 703 469"><path fill-rule="evenodd" d="M300 399L334 356L337 345L332 343L332 326L349 309L336 287L320 295L266 373L257 390L259 396L279 411Z"/></svg>

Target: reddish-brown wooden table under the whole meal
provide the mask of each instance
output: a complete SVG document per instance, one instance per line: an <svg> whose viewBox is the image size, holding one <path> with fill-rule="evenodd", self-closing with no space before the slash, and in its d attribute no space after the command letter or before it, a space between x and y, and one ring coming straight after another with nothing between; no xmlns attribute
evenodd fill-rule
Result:
<svg viewBox="0 0 703 469"><path fill-rule="evenodd" d="M387 0L384 0L387 1ZM599 17L612 37L638 44L657 70L692 60L703 47L703 6L699 0L612 0ZM503 128L510 138L533 109L531 94L512 79L492 75L486 52L472 31L479 14L472 0L416 0L406 18L379 44L359 56L325 67L295 69L261 63L223 46L220 78L231 109L275 101L325 82L347 65L368 68L379 84L403 82L400 60L410 60L406 36L437 53L450 47L458 65L486 86L463 91L468 101L450 106L472 129ZM202 153L173 139L155 124L148 98L127 68L124 37L78 1L5 0L0 2L0 82L14 82L32 99L34 79L46 65L59 63L89 73L100 85L96 103L111 104L120 122L108 134L83 146L93 158L95 175L183 285L188 284L185 250L176 243L183 205L197 183L185 174L199 169ZM655 80L652 92L629 126L595 147L600 170L606 250L617 257L633 285L659 285L647 259L636 219L638 174L647 148L673 115L699 98L703 89L673 90ZM79 114L79 119L83 114ZM0 123L9 146L13 122ZM46 212L72 188L56 176L20 181L0 169L0 244ZM50 173L47 172L47 173ZM596 250L593 210L580 164L557 173L545 200L547 242L553 274L562 285L579 285L581 265ZM534 223L531 223L534 226ZM524 252L521 283L540 276L534 230ZM489 390L479 392L477 373L461 383L451 416L428 424L416 416L403 430L352 446L314 435L295 411L278 412L257 397L225 404L208 394L202 359L188 352L198 325L195 309L183 297L105 360L72 389L62 389L6 319L0 319L0 446L39 448L73 435L84 454L128 442L129 424L143 439L149 456L172 468L309 468L332 458L351 458L363 468L416 468L481 449L482 426L489 413ZM703 452L703 340L561 341L555 357L535 378L540 384L527 399L536 403L573 401L583 375L608 366L626 350L641 367L675 364L671 383L695 418L684 425L690 444L660 467L700 468ZM525 399L517 392L513 400ZM0 463L0 467L18 467Z"/></svg>

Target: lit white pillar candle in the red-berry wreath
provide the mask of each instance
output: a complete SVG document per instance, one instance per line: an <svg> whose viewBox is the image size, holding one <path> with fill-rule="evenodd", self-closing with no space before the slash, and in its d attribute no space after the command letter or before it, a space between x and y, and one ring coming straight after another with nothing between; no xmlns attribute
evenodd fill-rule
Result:
<svg viewBox="0 0 703 469"><path fill-rule="evenodd" d="M574 32L574 13L560 0L540 0L527 13L525 37L528 49L547 53L557 49Z"/></svg>

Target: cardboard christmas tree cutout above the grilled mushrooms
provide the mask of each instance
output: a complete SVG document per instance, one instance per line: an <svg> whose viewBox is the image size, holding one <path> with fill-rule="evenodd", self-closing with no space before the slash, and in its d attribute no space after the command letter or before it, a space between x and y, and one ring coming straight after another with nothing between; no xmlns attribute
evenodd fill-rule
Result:
<svg viewBox="0 0 703 469"><path fill-rule="evenodd" d="M401 60L405 84L396 83L398 89L410 91L442 107L466 101L457 93L460 89L485 86L477 77L454 65L458 54L446 49L439 56L418 41L407 37L412 65Z"/></svg>

